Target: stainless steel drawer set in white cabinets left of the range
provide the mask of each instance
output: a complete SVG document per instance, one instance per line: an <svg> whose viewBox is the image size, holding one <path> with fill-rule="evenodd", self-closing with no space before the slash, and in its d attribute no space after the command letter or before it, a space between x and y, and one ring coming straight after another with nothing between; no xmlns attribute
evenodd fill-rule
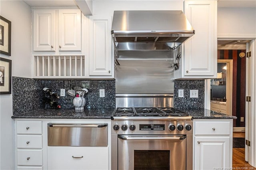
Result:
<svg viewBox="0 0 256 170"><path fill-rule="evenodd" d="M108 124L48 123L48 146L108 146Z"/></svg>

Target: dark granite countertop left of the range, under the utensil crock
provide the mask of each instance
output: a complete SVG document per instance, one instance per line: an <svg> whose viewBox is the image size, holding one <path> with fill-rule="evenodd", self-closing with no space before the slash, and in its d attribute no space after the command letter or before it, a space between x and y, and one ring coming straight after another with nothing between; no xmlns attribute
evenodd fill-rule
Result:
<svg viewBox="0 0 256 170"><path fill-rule="evenodd" d="M114 109L38 109L18 115L12 118L33 118L33 119L110 119Z"/></svg>

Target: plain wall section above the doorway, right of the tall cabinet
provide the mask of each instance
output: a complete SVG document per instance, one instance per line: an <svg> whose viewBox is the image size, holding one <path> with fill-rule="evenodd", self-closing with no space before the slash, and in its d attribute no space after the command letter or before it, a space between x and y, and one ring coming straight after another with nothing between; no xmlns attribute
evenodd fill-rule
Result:
<svg viewBox="0 0 256 170"><path fill-rule="evenodd" d="M224 34L256 38L256 8L218 8L218 38Z"/></svg>

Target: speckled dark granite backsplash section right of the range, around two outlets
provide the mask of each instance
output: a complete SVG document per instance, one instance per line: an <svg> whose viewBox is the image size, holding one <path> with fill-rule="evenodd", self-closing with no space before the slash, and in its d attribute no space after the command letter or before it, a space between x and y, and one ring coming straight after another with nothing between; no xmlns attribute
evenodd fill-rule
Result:
<svg viewBox="0 0 256 170"><path fill-rule="evenodd" d="M178 97L178 89L184 89L184 97ZM190 98L190 90L198 90L198 98ZM204 80L174 80L174 108L203 109Z"/></svg>

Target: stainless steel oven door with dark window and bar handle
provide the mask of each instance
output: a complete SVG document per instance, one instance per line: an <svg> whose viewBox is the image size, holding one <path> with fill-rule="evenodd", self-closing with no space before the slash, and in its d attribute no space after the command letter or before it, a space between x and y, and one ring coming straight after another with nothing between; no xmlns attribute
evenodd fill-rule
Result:
<svg viewBox="0 0 256 170"><path fill-rule="evenodd" d="M186 135L118 135L118 170L186 170Z"/></svg>

